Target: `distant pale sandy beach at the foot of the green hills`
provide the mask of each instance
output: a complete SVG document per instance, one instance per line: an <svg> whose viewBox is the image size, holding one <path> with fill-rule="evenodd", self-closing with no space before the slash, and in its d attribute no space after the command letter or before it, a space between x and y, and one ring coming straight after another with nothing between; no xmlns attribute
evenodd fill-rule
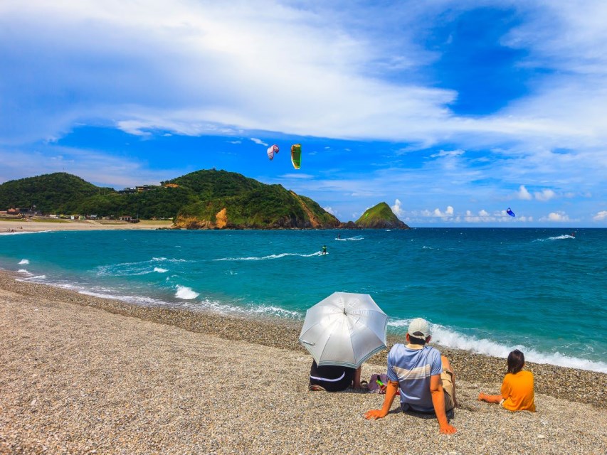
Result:
<svg viewBox="0 0 607 455"><path fill-rule="evenodd" d="M120 220L44 220L0 218L0 234L3 232L43 232L48 230L117 230L170 228L171 220L140 220L129 223Z"/></svg>

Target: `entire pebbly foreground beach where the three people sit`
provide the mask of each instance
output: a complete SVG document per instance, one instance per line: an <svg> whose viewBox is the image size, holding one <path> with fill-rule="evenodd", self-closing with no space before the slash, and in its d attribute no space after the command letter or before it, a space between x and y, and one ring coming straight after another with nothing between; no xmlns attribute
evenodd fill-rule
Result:
<svg viewBox="0 0 607 455"><path fill-rule="evenodd" d="M308 392L297 323L153 309L0 272L0 453L604 454L607 375L529 364L537 412L478 402L505 360L448 350L458 432L382 395ZM393 342L394 340L391 340ZM362 378L385 372L385 352Z"/></svg>

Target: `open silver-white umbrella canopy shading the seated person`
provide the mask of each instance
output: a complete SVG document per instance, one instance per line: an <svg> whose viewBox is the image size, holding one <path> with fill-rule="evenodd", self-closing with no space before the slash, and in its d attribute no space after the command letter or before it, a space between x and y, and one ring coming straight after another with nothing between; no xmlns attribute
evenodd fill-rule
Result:
<svg viewBox="0 0 607 455"><path fill-rule="evenodd" d="M386 348L388 316L369 294L334 292L308 309L300 343L316 363L358 368Z"/></svg>

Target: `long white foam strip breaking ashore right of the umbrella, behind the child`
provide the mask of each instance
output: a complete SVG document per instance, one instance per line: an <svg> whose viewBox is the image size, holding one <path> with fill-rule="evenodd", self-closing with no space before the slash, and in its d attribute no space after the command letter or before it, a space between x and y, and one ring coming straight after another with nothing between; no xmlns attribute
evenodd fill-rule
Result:
<svg viewBox="0 0 607 455"><path fill-rule="evenodd" d="M388 325L392 327L401 327L406 330L409 322L410 320L407 319L399 319L397 321L390 321ZM430 323L430 329L433 343L448 348L468 350L473 353L492 355L493 357L500 358L507 358L512 350L519 349L523 351L525 360L528 360L529 362L548 363L561 367L607 373L607 363L601 361L570 357L569 355L564 355L559 352L542 353L534 348L522 345L507 346L505 344L497 343L496 341L488 340L487 338L477 338L475 336L458 333L457 331L453 331L440 324Z"/></svg>

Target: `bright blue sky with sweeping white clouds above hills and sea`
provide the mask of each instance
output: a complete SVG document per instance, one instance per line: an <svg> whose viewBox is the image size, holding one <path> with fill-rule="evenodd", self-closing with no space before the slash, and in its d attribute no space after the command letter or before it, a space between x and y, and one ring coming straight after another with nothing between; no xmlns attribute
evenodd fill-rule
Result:
<svg viewBox="0 0 607 455"><path fill-rule="evenodd" d="M602 0L4 0L0 182L216 167L342 221L385 201L413 227L606 228L606 18Z"/></svg>

